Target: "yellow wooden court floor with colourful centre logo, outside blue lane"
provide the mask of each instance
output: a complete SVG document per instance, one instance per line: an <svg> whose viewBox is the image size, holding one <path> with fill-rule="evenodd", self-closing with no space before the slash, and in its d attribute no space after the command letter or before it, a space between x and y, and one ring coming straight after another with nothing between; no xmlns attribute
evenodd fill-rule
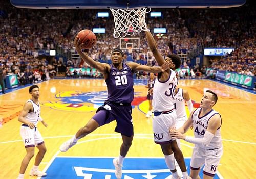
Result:
<svg viewBox="0 0 256 179"><path fill-rule="evenodd" d="M106 85L99 79L56 79L38 84L40 87L41 117L48 123L41 123L38 129L45 139L47 153L40 170L46 169L55 157L116 157L119 155L121 138L114 132L116 123L100 127L65 153L59 146L85 125L95 114L97 107L106 97ZM222 178L254 178L256 157L256 95L211 80L180 80L179 87L188 90L196 103L200 102L207 88L218 94L215 110L222 115L222 139L224 154L218 171ZM20 163L25 156L24 144L19 135L21 123L17 116L27 99L28 88L0 95L0 178L16 178ZM135 85L133 102L133 123L135 137L127 157L163 157L160 146L152 135L152 119L145 118L147 112L144 85ZM189 131L189 135L193 135ZM192 144L182 141L184 157L190 158ZM35 149L35 154L37 149ZM34 157L35 158L35 157ZM25 178L33 166L31 160ZM253 162L254 161L254 162ZM56 171L57 172L57 171ZM78 178L78 177L77 177ZM80 178L80 177L79 177ZM221 177L220 177L221 178ZM101 179L101 178L99 178Z"/></svg>

